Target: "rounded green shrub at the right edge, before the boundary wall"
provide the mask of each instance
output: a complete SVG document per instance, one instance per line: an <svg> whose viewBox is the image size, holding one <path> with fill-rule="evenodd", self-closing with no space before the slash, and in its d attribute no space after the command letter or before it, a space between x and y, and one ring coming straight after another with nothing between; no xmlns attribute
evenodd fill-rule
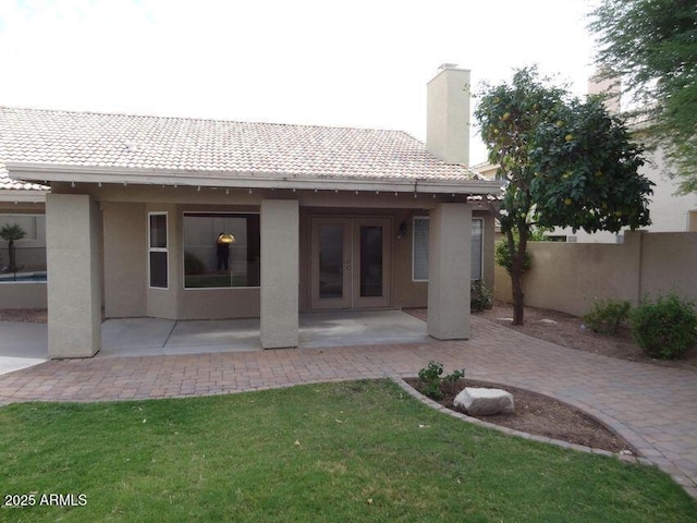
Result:
<svg viewBox="0 0 697 523"><path fill-rule="evenodd" d="M697 345L694 304L673 292L656 302L645 300L629 317L634 339L651 357L676 360Z"/></svg>

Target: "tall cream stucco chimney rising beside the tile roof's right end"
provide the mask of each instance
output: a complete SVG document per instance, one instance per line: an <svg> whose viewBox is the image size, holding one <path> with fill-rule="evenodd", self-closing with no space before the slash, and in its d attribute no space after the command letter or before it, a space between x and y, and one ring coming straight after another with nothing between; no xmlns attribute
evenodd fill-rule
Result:
<svg viewBox="0 0 697 523"><path fill-rule="evenodd" d="M469 70L443 63L428 83L426 150L448 163L469 165Z"/></svg>

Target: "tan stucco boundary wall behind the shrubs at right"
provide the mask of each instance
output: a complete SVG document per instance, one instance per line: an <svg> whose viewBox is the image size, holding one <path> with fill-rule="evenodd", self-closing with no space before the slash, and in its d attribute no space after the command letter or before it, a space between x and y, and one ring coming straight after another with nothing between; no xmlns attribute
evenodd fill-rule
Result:
<svg viewBox="0 0 697 523"><path fill-rule="evenodd" d="M629 232L623 244L612 245L533 242L529 253L533 268L524 276L529 306L582 316L596 299L636 305L646 294L670 290L697 301L697 232ZM497 273L499 285L511 287L505 270Z"/></svg>

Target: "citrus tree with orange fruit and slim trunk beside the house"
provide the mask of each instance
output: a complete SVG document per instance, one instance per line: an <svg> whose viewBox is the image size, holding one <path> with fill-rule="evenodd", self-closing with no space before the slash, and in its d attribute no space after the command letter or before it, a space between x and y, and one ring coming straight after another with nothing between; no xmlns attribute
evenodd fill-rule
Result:
<svg viewBox="0 0 697 523"><path fill-rule="evenodd" d="M515 71L511 84L486 85L475 117L506 186L494 212L511 259L513 323L523 325L527 242L534 228L617 232L650 223L652 183L637 174L641 148L598 97L582 101Z"/></svg>

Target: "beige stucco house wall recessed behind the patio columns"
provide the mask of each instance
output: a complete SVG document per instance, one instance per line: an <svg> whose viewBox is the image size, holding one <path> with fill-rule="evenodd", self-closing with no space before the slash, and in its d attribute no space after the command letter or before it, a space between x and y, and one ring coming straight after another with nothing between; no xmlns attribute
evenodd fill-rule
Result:
<svg viewBox="0 0 697 523"><path fill-rule="evenodd" d="M391 306L424 307L428 282L412 280L412 218L426 216L438 205L431 195L394 193L335 193L205 190L196 187L56 184L57 194L86 192L99 202L103 215L105 312L107 317L152 316L171 319L259 317L260 288L185 289L183 275L183 215L185 212L259 212L261 200L282 194L299 205L298 309L310 311L309 242L313 216L390 217ZM484 218L484 276L493 281L493 218ZM150 289L148 280L148 212L168 214L168 289ZM400 234L400 224L407 232Z"/></svg>

